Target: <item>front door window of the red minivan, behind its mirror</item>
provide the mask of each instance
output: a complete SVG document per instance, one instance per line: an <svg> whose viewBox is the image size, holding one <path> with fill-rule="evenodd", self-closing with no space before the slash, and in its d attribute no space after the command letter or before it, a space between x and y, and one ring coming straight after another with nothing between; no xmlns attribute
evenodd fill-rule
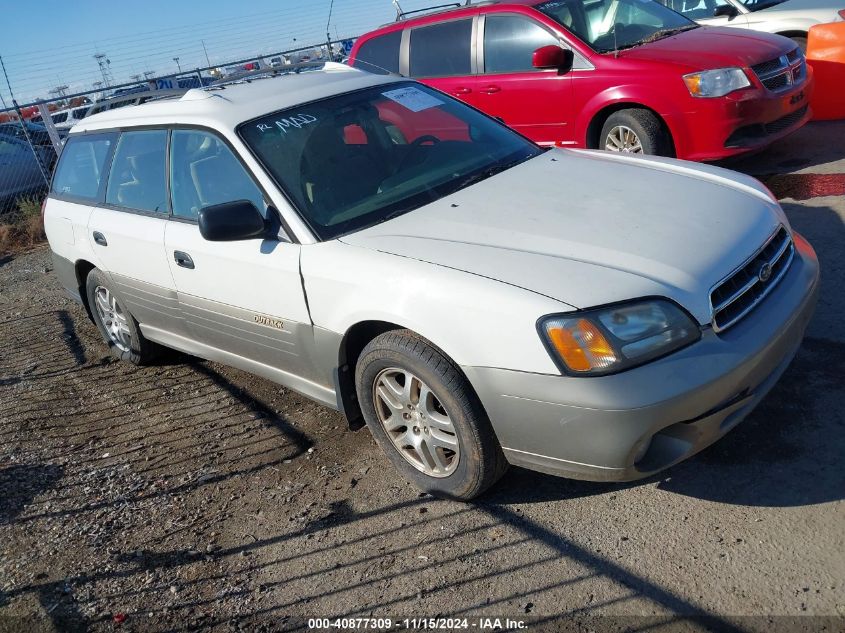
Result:
<svg viewBox="0 0 845 633"><path fill-rule="evenodd" d="M515 15L488 15L484 20L484 71L532 72L534 51L559 45L557 38L534 20Z"/></svg>

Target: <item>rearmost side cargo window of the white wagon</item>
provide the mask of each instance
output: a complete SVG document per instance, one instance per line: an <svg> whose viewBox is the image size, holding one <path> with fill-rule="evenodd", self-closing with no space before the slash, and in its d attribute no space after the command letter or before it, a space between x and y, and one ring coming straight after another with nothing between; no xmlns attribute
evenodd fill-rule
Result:
<svg viewBox="0 0 845 633"><path fill-rule="evenodd" d="M106 161L116 134L71 136L62 150L52 192L60 196L98 200Z"/></svg>

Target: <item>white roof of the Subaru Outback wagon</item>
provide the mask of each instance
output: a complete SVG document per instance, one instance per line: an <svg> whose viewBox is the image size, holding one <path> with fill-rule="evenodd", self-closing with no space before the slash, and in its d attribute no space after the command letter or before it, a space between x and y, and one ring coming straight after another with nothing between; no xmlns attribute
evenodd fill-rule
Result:
<svg viewBox="0 0 845 633"><path fill-rule="evenodd" d="M162 99L107 110L76 124L72 134L150 125L197 125L233 130L244 121L278 110L407 79L373 75L343 64L326 63L308 72L242 79L188 90L180 99Z"/></svg>

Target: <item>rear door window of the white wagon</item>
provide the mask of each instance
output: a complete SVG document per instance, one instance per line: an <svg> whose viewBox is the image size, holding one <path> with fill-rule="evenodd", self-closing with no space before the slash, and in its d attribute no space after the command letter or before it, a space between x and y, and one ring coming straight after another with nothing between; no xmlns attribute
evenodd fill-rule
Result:
<svg viewBox="0 0 845 633"><path fill-rule="evenodd" d="M167 214L167 130L124 132L114 153L106 202Z"/></svg>

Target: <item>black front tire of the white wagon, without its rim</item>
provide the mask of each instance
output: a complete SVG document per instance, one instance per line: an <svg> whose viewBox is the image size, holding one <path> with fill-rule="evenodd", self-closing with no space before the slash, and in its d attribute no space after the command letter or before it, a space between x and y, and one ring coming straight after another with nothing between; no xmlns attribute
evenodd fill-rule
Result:
<svg viewBox="0 0 845 633"><path fill-rule="evenodd" d="M393 444L376 414L374 385L386 369L409 371L431 389L451 418L460 448L454 471L434 477L412 466ZM367 426L406 479L431 494L468 501L487 490L508 468L481 402L458 369L442 351L410 330L393 330L373 339L361 352L355 386Z"/></svg>

